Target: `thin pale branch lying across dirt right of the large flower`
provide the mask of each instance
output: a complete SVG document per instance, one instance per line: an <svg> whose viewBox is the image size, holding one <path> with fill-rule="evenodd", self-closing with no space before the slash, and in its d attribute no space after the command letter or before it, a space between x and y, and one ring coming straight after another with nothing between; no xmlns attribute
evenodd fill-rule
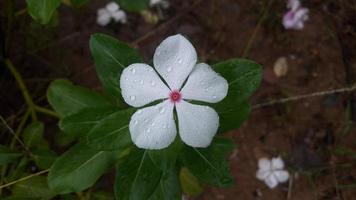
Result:
<svg viewBox="0 0 356 200"><path fill-rule="evenodd" d="M320 97L320 96L326 96L326 95L337 94L337 93L353 92L355 90L356 90L356 84L354 84L352 87L347 87L347 88L326 90L326 91L315 92L315 93L311 93L311 94L304 94L304 95L288 97L288 98L284 98L284 99L272 100L272 101L253 105L252 109L258 109L258 108L262 108L262 107L266 107L266 106L272 106L275 104L281 104L281 103L286 103L286 102L290 102L290 101L298 101L301 99L307 99L307 98L312 98L312 97Z"/></svg>

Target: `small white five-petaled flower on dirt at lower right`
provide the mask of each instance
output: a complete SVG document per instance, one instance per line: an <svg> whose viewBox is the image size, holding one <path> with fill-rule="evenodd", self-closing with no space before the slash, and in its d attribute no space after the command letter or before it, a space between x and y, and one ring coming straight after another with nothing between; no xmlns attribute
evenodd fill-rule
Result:
<svg viewBox="0 0 356 200"><path fill-rule="evenodd" d="M278 183L284 183L289 179L288 171L284 170L284 162L280 157L261 158L258 160L256 177L264 181L269 188L275 188Z"/></svg>

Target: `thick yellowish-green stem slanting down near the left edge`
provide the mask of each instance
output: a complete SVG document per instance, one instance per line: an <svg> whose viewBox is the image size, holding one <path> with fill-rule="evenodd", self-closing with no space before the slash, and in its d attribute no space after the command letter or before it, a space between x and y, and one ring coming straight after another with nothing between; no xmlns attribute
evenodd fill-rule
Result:
<svg viewBox="0 0 356 200"><path fill-rule="evenodd" d="M5 64L7 68L11 71L12 75L15 77L15 80L17 84L20 87L20 90L22 92L22 95L25 98L26 104L28 106L28 109L30 110L32 121L37 121L37 115L35 111L35 103L32 100L32 97L30 96L27 87L25 85L25 82L23 81L23 78L21 74L17 71L15 66L12 64L12 62L9 59L5 59Z"/></svg>

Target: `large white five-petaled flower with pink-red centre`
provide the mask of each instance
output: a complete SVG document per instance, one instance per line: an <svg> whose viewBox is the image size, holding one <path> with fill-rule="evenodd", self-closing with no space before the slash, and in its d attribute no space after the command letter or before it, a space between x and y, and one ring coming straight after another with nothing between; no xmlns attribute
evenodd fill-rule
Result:
<svg viewBox="0 0 356 200"><path fill-rule="evenodd" d="M178 34L157 47L154 68L135 63L123 70L120 87L127 104L142 107L161 101L132 115L129 129L138 147L162 149L174 141L177 134L174 110L184 143L193 147L207 147L211 143L219 126L218 114L209 106L186 100L219 102L227 95L228 83L209 65L196 62L193 45Z"/></svg>

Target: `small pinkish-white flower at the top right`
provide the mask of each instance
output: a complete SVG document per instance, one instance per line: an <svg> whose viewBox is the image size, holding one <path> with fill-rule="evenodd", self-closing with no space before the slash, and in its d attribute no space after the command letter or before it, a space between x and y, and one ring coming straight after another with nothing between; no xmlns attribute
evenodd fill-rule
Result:
<svg viewBox="0 0 356 200"><path fill-rule="evenodd" d="M301 30L304 22L309 19L309 10L301 7L299 0L289 0L289 11L283 16L283 26L286 29Z"/></svg>

